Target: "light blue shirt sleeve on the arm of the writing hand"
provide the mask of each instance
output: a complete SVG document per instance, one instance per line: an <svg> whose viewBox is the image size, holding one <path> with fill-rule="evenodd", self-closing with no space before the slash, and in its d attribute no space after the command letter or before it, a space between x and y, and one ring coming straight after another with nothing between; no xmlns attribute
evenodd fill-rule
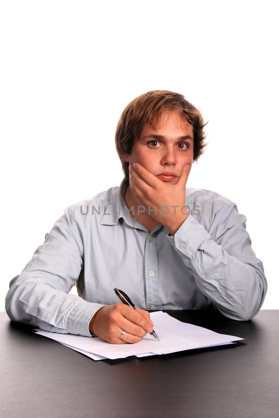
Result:
<svg viewBox="0 0 279 418"><path fill-rule="evenodd" d="M91 337L90 319L105 305L69 294L83 260L82 237L74 212L67 208L23 271L10 281L5 298L10 319L45 331Z"/></svg>

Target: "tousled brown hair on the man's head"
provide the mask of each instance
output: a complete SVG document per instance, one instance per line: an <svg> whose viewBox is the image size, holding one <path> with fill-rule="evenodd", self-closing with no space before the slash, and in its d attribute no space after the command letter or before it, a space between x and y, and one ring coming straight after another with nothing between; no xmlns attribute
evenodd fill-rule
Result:
<svg viewBox="0 0 279 418"><path fill-rule="evenodd" d="M193 128L194 151L193 161L197 161L203 154L207 143L205 140L202 114L193 104L188 102L182 94L169 90L152 90L133 99L123 110L118 120L115 132L115 145L122 164L122 171L129 182L129 163L124 159L124 154L131 155L133 145L140 138L143 127L150 124L157 126L163 111L177 110Z"/></svg>

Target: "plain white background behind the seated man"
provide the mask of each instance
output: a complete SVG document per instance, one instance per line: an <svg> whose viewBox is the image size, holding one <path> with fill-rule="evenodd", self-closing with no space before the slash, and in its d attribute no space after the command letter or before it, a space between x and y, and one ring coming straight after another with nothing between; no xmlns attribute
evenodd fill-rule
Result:
<svg viewBox="0 0 279 418"><path fill-rule="evenodd" d="M245 214L268 281L262 309L279 308L274 5L0 3L0 311L10 280L64 209L120 184L118 118L157 89L184 94L209 120L209 145L187 185L217 191Z"/></svg>

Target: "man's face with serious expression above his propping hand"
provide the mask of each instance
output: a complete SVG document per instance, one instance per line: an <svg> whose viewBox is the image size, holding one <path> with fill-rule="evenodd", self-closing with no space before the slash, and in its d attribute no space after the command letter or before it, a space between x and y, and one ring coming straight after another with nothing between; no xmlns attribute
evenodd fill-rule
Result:
<svg viewBox="0 0 279 418"><path fill-rule="evenodd" d="M164 112L156 130L150 125L143 128L141 137L125 161L139 163L161 181L176 184L184 167L193 163L193 129L178 112ZM160 177L163 172L173 172L176 177Z"/></svg>

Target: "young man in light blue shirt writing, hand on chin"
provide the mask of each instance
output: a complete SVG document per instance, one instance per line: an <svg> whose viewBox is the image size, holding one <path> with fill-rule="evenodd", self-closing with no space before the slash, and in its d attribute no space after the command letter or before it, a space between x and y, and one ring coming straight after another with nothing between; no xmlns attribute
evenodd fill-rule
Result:
<svg viewBox="0 0 279 418"><path fill-rule="evenodd" d="M65 209L10 281L10 319L125 344L152 331L147 309L256 316L267 281L246 217L224 196L186 187L207 145L204 126L178 93L151 91L129 103L115 134L120 186ZM75 283L79 296L69 294ZM114 288L137 310L119 302Z"/></svg>

